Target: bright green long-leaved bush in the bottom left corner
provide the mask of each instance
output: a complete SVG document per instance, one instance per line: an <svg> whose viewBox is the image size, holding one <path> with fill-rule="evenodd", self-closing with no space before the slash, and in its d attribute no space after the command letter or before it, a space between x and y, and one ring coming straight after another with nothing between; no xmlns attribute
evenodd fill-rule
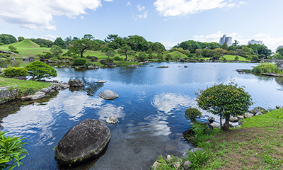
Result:
<svg viewBox="0 0 283 170"><path fill-rule="evenodd" d="M13 169L23 164L23 159L28 152L23 149L27 143L22 142L21 137L5 137L7 132L0 132L0 169Z"/></svg>

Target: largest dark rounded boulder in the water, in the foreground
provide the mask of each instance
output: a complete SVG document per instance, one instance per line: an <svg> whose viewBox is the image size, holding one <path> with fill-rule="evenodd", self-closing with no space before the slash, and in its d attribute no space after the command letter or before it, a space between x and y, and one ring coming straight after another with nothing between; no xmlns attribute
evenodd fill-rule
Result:
<svg viewBox="0 0 283 170"><path fill-rule="evenodd" d="M97 157L108 145L110 136L110 129L102 120L83 120L60 140L55 159L61 164L78 164Z"/></svg>

